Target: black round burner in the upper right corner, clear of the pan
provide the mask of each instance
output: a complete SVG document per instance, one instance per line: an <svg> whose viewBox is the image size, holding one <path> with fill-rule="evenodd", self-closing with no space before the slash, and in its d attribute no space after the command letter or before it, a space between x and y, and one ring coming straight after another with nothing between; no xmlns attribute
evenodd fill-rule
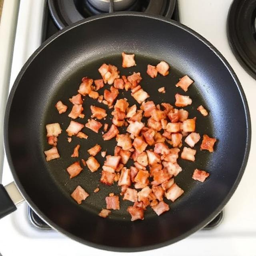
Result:
<svg viewBox="0 0 256 256"><path fill-rule="evenodd" d="M230 47L243 68L256 79L256 1L234 0L227 33Z"/></svg>

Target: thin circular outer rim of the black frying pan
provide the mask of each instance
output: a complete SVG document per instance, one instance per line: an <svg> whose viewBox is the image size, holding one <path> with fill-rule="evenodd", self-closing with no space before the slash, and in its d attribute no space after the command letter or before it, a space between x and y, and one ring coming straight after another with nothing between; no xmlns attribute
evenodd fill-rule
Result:
<svg viewBox="0 0 256 256"><path fill-rule="evenodd" d="M191 34L192 36L196 37L198 40L200 40L203 44L205 44L208 48L210 48L210 50L222 61L222 63L224 64L224 66L226 67L226 69L228 70L228 72L230 73L230 75L232 76L232 79L234 80L234 83L236 84L236 87L238 89L238 92L240 94L243 106L244 106L244 112L245 112L245 118L246 118L246 126L247 126L247 137L246 137L246 148L245 148L245 152L244 152L244 158L242 161L242 165L241 168L239 170L238 176L236 178L236 181L234 182L232 188L230 189L230 191L228 192L228 194L226 195L225 199L220 203L220 205L218 206L218 208L216 208L212 214L210 214L210 216L208 216L206 219L204 219L202 222L200 222L200 224L198 224L197 226L195 226L194 228L190 229L188 232L172 239L172 240L168 240L162 243L156 243L150 246L138 246L138 247L114 247L114 246L106 246L106 245L102 245L102 244L97 244L94 242L89 242L88 240L84 240L81 239L77 236L75 236L74 234L71 234L70 232L67 232L66 230L64 230L63 228L60 228L57 224L55 224L54 222L52 222L48 217L45 216L45 214L43 212L41 212L38 207L36 206L36 204L34 204L34 202L32 202L32 200L30 199L30 196L25 192L19 178L18 175L15 172L14 166L12 164L12 158L11 158L11 154L10 154L10 145L9 145L9 140L8 140L8 118L9 118L9 114L10 114L10 108L12 106L12 100L14 98L14 94L16 92L16 88L18 87L18 84L23 76L23 74L26 72L27 68L30 66L30 64L33 62L33 60L37 57L38 54L40 54L40 52L42 52L44 50L44 48L46 48L48 46L48 44L50 44L52 41L56 40L59 36L61 36L62 34L65 34L66 32L68 32L69 30L72 30L73 28L76 28L77 26L81 26L83 24L89 23L89 22L93 22L95 20L100 20L100 19L104 19L104 18L111 18L114 16L135 16L135 17L141 17L141 18L151 18L154 20L159 20L161 22L166 22L172 26L176 26L182 30L184 30L185 32L188 32L189 34ZM94 248L97 249L101 249L101 250L108 250L108 251L115 251L115 252L140 252L140 251L146 251L146 250L153 250L153 249L157 249L157 248L161 248L164 246L168 246L170 244L173 244L175 242L178 242L186 237L188 237L189 235L193 234L194 232L200 230L201 228L203 228L206 224L208 224L215 216L217 216L219 214L219 212L222 210L222 208L226 205L226 203L230 200L231 196L234 194L234 191L236 190L238 184L240 183L240 180L242 178L242 175L244 174L244 170L246 168L246 164L248 161L248 156L250 153L250 144L251 144L251 121L250 121L250 112L249 112L249 108L248 108L248 103L246 100L246 96L244 94L244 90L240 84L240 81L238 80L238 77L236 76L234 70L232 69L232 67L230 66L230 64L227 62L227 60L224 58L224 56L222 56L222 54L208 41L206 40L203 36L201 36L200 34L198 34L197 32L195 32L194 30L192 30L191 28L188 28L187 26L180 24L174 20L162 17L162 16L157 16L157 15L152 15L152 14L144 14L141 12L116 12L116 13L112 13L112 14L102 14L102 15L98 15L98 16L92 16L90 18L86 18L84 20L81 20L79 22L74 23L72 26L68 26L66 28L64 28L63 30L60 30L59 32L57 32L56 34L54 34L53 36L51 36L50 38L48 38L48 40L46 40L44 43L42 43L37 49L36 51L30 56L30 58L28 58L28 60L26 61L26 63L24 64L24 66L22 67L22 69L20 70L13 86L12 89L10 91L10 94L8 96L8 101L6 103L6 110L5 110L5 116L4 116L4 149L6 152L6 157L8 160L8 164L10 166L10 170L12 172L12 175L14 177L14 181L18 186L18 189L20 190L22 196L24 196L24 198L26 199L26 202L29 204L29 206L40 216L40 218L42 218L49 226L51 226L54 230L57 230L58 232L61 232L62 234L68 236L69 238L72 238L73 240L76 240L82 244L85 244L87 246L92 246Z"/></svg>

